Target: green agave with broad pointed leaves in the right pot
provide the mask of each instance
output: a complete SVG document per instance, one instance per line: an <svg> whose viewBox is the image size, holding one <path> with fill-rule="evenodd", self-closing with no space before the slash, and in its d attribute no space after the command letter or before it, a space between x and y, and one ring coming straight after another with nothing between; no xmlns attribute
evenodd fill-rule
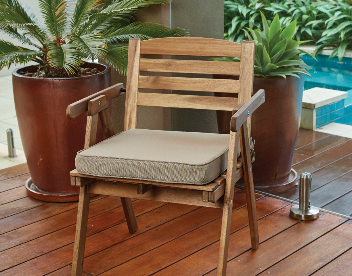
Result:
<svg viewBox="0 0 352 276"><path fill-rule="evenodd" d="M304 50L297 49L297 46L308 42L293 39L296 30L296 20L287 27L281 28L279 16L276 14L269 27L263 13L263 31L250 29L243 30L250 41L256 42L256 53L254 56L254 75L257 77L295 76L299 73L310 76L302 65L306 65L300 58L301 53L308 54ZM238 57L213 58L217 61L240 61Z"/></svg>

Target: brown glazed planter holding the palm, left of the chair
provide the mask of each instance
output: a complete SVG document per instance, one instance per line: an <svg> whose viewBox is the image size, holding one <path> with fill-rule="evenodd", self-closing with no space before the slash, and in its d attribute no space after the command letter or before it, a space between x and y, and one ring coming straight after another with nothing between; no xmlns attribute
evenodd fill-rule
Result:
<svg viewBox="0 0 352 276"><path fill-rule="evenodd" d="M79 188L70 185L77 151L84 148L87 116L66 117L70 103L111 86L110 68L100 63L90 67L101 73L73 78L26 77L34 66L12 71L13 94L18 126L31 178L27 194L52 202L78 200ZM97 141L103 139L98 126Z"/></svg>

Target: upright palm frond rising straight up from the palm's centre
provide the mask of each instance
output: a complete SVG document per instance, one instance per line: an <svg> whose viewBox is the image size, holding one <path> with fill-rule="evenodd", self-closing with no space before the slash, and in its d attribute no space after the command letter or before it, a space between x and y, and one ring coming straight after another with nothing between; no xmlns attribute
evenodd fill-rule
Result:
<svg viewBox="0 0 352 276"><path fill-rule="evenodd" d="M66 27L66 0L38 0L45 25L53 37L62 37Z"/></svg>

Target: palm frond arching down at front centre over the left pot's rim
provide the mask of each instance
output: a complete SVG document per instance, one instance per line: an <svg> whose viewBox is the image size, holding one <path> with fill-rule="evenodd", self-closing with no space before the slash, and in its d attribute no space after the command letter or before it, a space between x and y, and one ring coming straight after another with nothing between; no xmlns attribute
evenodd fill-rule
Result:
<svg viewBox="0 0 352 276"><path fill-rule="evenodd" d="M82 63L82 53L76 49L73 43L59 45L52 41L47 41L49 65L54 68L64 68L67 73L74 74L73 69Z"/></svg>

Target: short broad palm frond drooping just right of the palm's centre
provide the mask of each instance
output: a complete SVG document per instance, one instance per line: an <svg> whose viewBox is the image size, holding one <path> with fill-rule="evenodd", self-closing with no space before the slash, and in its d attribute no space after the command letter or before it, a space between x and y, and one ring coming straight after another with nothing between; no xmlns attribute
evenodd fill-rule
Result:
<svg viewBox="0 0 352 276"><path fill-rule="evenodd" d="M100 33L91 33L83 36L71 35L72 41L86 57L102 57L107 53L105 38Z"/></svg>

